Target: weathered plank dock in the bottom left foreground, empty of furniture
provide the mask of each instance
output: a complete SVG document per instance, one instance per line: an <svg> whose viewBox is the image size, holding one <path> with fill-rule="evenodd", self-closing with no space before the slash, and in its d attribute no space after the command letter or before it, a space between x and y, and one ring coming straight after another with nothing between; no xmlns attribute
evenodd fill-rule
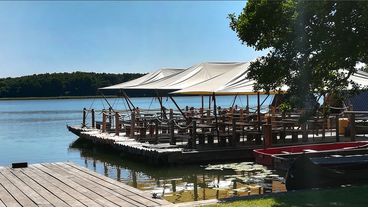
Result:
<svg viewBox="0 0 368 207"><path fill-rule="evenodd" d="M0 166L0 207L151 207L171 204L73 162Z"/></svg>

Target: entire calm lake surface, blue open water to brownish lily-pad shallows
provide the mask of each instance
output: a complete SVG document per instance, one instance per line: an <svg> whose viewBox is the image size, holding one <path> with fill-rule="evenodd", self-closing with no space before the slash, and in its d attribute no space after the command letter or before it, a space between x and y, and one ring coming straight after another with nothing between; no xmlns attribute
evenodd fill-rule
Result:
<svg viewBox="0 0 368 207"><path fill-rule="evenodd" d="M264 98L266 96L261 96L261 101ZM232 105L233 99L231 96L216 97L216 105L226 108ZM201 97L177 97L175 100L181 108L186 105L201 107ZM268 106L270 100L271 97L264 106ZM152 98L132 98L131 101L139 108L159 108L159 103ZM109 99L109 102L114 103L114 108L125 109L122 99ZM164 98L163 102L166 108L175 108L170 100ZM249 102L251 107L255 106L256 96L249 96ZM208 97L204 104L208 106ZM238 97L235 104L245 107L246 97ZM279 179L284 177L283 173L268 172L259 166L255 166L256 171L249 172L205 169L199 165L154 168L125 160L112 149L80 140L67 130L67 124L80 125L84 107L108 108L100 99L0 101L0 166L12 162L72 161L138 189L162 193L164 199L173 203L285 190L283 178ZM87 117L86 122L90 119Z"/></svg>

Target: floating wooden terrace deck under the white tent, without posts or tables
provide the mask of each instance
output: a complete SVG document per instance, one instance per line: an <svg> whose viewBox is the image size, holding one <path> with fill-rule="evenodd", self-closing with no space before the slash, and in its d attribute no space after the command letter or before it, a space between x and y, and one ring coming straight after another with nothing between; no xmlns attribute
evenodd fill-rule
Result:
<svg viewBox="0 0 368 207"><path fill-rule="evenodd" d="M95 144L110 145L121 155L133 156L134 160L143 161L148 160L149 164L161 165L161 164L190 164L190 163L206 163L211 161L238 161L244 159L254 159L255 149L262 149L262 144L255 144L252 141L245 141L244 145L241 141L237 142L237 147L221 147L213 148L213 144L205 144L202 148L198 142L196 150L186 150L186 143L178 144L176 146L169 145L169 143L153 145L141 143L130 138L124 133L120 133L119 136L101 132L95 128L82 128L81 126L68 126L68 130L75 135L93 141ZM309 140L307 143L302 142L302 136L298 136L297 142L292 142L291 136L287 136L283 140L278 139L277 144L273 144L273 147L286 147L293 145L305 145L305 144L324 144L336 142L335 132L326 133L325 138L322 136L314 136L309 134ZM314 139L314 140L313 140ZM313 140L313 141L312 141ZM358 136L356 141L367 141L367 137ZM216 141L216 140L215 140ZM340 136L340 142L348 142L350 137ZM217 145L217 143L215 143ZM207 146L207 147L206 147Z"/></svg>

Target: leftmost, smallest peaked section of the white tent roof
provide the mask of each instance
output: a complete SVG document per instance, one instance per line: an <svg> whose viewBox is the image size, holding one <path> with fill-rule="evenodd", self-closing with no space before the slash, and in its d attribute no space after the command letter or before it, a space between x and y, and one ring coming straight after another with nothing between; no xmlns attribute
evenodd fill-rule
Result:
<svg viewBox="0 0 368 207"><path fill-rule="evenodd" d="M178 73L180 71L183 71L185 69L178 69L178 68L160 68L156 71L153 71L152 73L149 73L145 76L142 76L140 78L125 82L125 83L121 83L121 84L117 84L117 85L112 85L109 87L105 87L105 88L99 88L99 89L120 89L120 88L125 88L125 87L133 87L136 85L140 85L140 84L148 84L148 83L152 83L155 81L158 81L164 77L168 77L171 76L175 73Z"/></svg>

